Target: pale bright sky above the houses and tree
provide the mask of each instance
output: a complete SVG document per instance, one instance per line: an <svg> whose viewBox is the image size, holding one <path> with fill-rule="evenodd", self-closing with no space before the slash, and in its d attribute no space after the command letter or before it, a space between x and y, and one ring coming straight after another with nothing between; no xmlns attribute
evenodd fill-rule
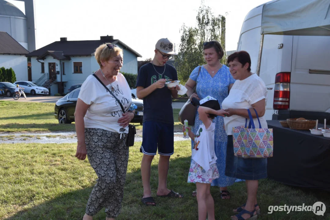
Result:
<svg viewBox="0 0 330 220"><path fill-rule="evenodd" d="M6 0L23 13L24 2ZM153 58L156 42L168 38L179 51L183 24L196 26L201 0L34 0L36 49L60 37L68 41L114 36L142 55ZM214 15L226 17L226 51L236 50L248 12L269 0L204 0Z"/></svg>

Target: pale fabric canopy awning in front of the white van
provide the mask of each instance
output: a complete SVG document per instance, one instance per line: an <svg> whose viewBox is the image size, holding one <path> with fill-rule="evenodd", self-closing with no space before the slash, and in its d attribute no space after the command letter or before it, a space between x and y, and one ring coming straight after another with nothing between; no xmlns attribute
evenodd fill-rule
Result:
<svg viewBox="0 0 330 220"><path fill-rule="evenodd" d="M330 0L275 0L265 4L261 34L330 36Z"/></svg>

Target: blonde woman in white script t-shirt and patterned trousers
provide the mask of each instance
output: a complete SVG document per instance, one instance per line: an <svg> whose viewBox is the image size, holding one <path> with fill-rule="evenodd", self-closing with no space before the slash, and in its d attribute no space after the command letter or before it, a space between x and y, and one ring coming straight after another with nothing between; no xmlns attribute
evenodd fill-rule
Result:
<svg viewBox="0 0 330 220"><path fill-rule="evenodd" d="M100 69L94 74L121 101L126 112L132 98L125 77L119 73L123 64L122 49L103 44L95 50L95 59ZM93 219L102 207L105 207L107 220L114 219L120 212L128 163L128 124L133 118L134 112L123 113L116 99L93 75L87 77L75 111L76 157L84 160L87 154L98 179L83 220Z"/></svg>

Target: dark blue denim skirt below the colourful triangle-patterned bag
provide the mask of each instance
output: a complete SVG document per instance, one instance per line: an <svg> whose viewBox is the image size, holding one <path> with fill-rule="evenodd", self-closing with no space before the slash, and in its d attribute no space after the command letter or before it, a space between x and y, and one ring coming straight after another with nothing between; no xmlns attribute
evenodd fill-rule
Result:
<svg viewBox="0 0 330 220"><path fill-rule="evenodd" d="M245 180L264 179L267 177L267 158L236 157L233 136L228 135L225 175Z"/></svg>

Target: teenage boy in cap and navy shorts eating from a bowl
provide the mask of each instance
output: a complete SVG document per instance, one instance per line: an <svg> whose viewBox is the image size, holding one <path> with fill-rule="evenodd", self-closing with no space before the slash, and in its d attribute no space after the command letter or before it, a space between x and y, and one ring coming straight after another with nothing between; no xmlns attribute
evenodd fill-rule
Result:
<svg viewBox="0 0 330 220"><path fill-rule="evenodd" d="M178 80L177 70L166 62L173 55L174 44L167 38L158 40L155 55L150 63L143 65L136 81L136 94L143 99L143 131L140 152L143 153L141 175L143 184L142 202L156 205L151 196L151 162L159 154L157 196L182 198L183 195L167 189L167 173L170 156L174 153L174 119L172 97L178 97L179 86L168 88L165 82Z"/></svg>

